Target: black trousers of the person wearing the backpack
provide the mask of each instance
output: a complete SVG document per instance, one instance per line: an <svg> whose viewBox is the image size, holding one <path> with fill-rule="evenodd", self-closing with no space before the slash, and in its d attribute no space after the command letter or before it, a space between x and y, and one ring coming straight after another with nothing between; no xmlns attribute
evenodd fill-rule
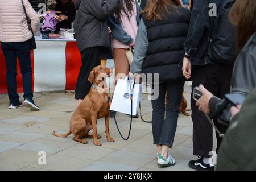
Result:
<svg viewBox="0 0 256 182"><path fill-rule="evenodd" d="M233 72L232 65L224 64L207 64L192 69L192 90L195 86L204 85L214 96L223 98L226 93L230 92L230 82ZM205 115L198 110L196 101L191 94L191 109L193 121L193 155L209 157L209 152L213 149L213 127ZM225 133L226 127L213 119L214 124ZM222 139L217 137L217 149L220 148Z"/></svg>

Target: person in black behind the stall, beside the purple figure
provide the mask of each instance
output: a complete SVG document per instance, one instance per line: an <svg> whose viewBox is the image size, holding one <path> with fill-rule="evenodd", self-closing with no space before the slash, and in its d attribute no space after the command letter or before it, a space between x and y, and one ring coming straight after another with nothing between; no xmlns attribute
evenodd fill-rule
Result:
<svg viewBox="0 0 256 182"><path fill-rule="evenodd" d="M60 28L72 28L72 22L75 20L76 9L71 0L58 0L55 11L60 11L60 19L56 25L55 33L60 31Z"/></svg>

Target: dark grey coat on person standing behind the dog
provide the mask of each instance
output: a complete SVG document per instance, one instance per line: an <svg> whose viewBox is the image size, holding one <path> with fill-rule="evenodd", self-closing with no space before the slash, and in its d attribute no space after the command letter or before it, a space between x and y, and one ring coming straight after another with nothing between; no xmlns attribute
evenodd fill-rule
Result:
<svg viewBox="0 0 256 182"><path fill-rule="evenodd" d="M75 36L82 52L90 47L110 47L108 17L120 0L77 0L75 7Z"/></svg>

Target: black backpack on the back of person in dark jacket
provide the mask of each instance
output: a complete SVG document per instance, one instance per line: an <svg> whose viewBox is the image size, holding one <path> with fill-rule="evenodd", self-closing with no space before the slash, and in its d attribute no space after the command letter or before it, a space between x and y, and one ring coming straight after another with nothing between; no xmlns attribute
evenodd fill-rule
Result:
<svg viewBox="0 0 256 182"><path fill-rule="evenodd" d="M222 0L217 16L210 17L207 55L222 64L234 64L237 57L237 30L229 20L229 11L236 0Z"/></svg>

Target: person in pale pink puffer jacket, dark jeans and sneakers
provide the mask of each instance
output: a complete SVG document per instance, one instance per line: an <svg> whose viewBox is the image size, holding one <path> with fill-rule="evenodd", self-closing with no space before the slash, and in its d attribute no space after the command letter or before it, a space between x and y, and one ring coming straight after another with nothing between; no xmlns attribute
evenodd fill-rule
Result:
<svg viewBox="0 0 256 182"><path fill-rule="evenodd" d="M32 32L35 34L39 26L39 16L28 0L23 0L28 18L31 20ZM15 10L15 13L14 13ZM31 110L40 110L36 106L32 92L32 68L30 59L32 32L28 29L26 15L20 0L0 1L0 42L6 61L6 79L9 109L16 109L22 105ZM17 57L22 72L24 102L19 101L17 93Z"/></svg>

